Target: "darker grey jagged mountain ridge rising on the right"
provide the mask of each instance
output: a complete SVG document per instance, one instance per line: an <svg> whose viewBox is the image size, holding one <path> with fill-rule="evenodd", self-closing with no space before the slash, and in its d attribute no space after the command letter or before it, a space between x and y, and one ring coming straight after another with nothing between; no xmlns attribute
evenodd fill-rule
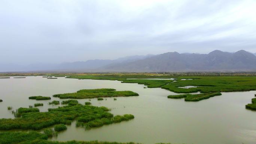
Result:
<svg viewBox="0 0 256 144"><path fill-rule="evenodd" d="M240 71L256 70L256 56L245 50L235 53L214 50L208 54L167 52L125 65L107 65L106 71Z"/></svg>

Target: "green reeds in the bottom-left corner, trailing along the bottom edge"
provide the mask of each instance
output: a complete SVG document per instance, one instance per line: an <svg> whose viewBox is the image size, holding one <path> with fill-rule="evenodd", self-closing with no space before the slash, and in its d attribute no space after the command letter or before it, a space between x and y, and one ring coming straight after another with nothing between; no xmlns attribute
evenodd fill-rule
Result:
<svg viewBox="0 0 256 144"><path fill-rule="evenodd" d="M50 132L51 133L51 132ZM49 133L49 137L51 137ZM47 133L48 134L48 133ZM135 144L107 141L49 141L47 134L39 132L0 132L0 144ZM138 143L137 143L138 144Z"/></svg>

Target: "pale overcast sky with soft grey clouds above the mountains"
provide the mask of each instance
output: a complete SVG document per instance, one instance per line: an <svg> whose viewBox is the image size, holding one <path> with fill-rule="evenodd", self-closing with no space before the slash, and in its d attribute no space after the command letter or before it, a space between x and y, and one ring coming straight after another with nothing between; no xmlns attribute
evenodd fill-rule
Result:
<svg viewBox="0 0 256 144"><path fill-rule="evenodd" d="M0 63L256 52L256 0L1 0Z"/></svg>

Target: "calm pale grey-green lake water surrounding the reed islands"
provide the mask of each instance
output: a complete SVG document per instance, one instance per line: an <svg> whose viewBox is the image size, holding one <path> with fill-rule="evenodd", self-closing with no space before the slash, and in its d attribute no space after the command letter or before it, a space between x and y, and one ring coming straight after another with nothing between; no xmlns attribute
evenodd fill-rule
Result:
<svg viewBox="0 0 256 144"><path fill-rule="evenodd" d="M143 144L187 143L187 144L255 144L256 111L244 107L256 94L250 92L229 92L199 102L185 102L184 99L168 99L176 93L161 88L147 88L136 83L121 83L110 80L46 79L41 76L25 79L0 79L0 118L13 118L7 106L15 110L42 102L40 111L47 111L52 105L36 101L28 96L76 92L80 89L114 88L118 91L134 91L140 96L107 98L104 101L91 99L92 105L112 108L111 113L133 114L135 119L85 131L76 128L75 122L57 138L52 140L99 140ZM79 99L84 104L88 99ZM58 107L58 106L55 106Z"/></svg>

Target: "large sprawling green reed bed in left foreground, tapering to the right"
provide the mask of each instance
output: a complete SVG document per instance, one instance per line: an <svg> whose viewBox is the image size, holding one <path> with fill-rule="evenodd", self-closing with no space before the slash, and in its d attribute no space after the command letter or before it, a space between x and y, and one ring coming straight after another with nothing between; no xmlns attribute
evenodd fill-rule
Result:
<svg viewBox="0 0 256 144"><path fill-rule="evenodd" d="M38 108L19 108L16 113L19 117L0 119L0 130L39 130L57 124L70 125L73 120L77 120L77 126L91 128L134 118L131 114L113 117L108 111L106 107L81 104L49 108L48 112L39 112Z"/></svg>

